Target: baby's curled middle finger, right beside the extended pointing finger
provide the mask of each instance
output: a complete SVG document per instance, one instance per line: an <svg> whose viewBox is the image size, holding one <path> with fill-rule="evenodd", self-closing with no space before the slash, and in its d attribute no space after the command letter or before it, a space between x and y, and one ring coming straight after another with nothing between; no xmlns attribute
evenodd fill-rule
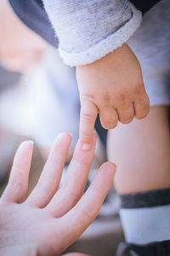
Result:
<svg viewBox="0 0 170 256"><path fill-rule="evenodd" d="M118 122L118 115L115 108L102 108L99 111L99 117L101 125L105 129L113 129L116 127Z"/></svg>

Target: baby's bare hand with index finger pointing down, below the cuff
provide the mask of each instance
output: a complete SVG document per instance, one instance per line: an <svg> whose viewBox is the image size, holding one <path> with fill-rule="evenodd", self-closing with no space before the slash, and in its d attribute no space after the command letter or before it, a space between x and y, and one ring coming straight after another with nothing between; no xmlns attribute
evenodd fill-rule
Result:
<svg viewBox="0 0 170 256"><path fill-rule="evenodd" d="M128 124L133 117L143 119L149 112L141 67L127 44L99 61L78 66L77 83L81 101L80 138L84 150L91 147L98 113L102 126L112 129L118 121Z"/></svg>

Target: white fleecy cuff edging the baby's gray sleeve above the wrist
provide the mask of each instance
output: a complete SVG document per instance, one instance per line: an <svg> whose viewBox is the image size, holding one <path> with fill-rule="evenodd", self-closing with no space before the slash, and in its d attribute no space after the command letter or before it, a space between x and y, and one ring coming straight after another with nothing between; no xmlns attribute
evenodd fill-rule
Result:
<svg viewBox="0 0 170 256"><path fill-rule="evenodd" d="M132 3L131 9L133 17L124 26L89 49L81 52L67 52L65 49L59 47L59 54L65 63L71 67L89 64L101 59L127 42L128 38L139 28L142 21L141 12Z"/></svg>

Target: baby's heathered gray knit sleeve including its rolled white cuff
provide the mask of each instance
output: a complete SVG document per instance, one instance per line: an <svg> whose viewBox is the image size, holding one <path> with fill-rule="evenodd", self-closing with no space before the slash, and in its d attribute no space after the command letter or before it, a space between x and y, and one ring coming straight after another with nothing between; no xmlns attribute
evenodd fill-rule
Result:
<svg viewBox="0 0 170 256"><path fill-rule="evenodd" d="M70 66L99 60L127 41L141 13L127 0L43 0Z"/></svg>

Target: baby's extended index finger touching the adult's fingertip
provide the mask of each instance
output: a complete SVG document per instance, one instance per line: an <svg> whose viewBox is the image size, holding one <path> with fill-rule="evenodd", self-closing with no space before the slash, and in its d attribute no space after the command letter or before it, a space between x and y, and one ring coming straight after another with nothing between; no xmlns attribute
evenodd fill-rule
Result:
<svg viewBox="0 0 170 256"><path fill-rule="evenodd" d="M88 151L92 147L94 124L98 108L93 102L81 101L80 113L80 143L82 150Z"/></svg>

